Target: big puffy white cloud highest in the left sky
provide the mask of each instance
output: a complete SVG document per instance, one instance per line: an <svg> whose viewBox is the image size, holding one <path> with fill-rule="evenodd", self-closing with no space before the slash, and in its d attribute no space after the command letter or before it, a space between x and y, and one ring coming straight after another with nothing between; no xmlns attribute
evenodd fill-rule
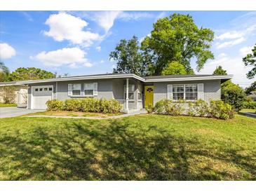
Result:
<svg viewBox="0 0 256 192"><path fill-rule="evenodd" d="M90 46L93 41L100 40L99 34L83 30L88 22L67 13L50 15L46 20L46 25L50 27L50 30L44 31L43 34L53 37L55 41L67 40L73 44Z"/></svg>

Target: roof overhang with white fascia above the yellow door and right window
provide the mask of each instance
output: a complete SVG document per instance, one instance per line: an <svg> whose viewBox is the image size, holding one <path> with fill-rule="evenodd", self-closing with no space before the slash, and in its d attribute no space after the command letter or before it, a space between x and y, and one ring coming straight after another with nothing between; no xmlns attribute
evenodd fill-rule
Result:
<svg viewBox="0 0 256 192"><path fill-rule="evenodd" d="M153 83L153 82L166 82L166 81L198 81L198 80L229 80L233 75L226 76L193 76L193 77L180 77L180 78L151 78L147 79L144 82Z"/></svg>

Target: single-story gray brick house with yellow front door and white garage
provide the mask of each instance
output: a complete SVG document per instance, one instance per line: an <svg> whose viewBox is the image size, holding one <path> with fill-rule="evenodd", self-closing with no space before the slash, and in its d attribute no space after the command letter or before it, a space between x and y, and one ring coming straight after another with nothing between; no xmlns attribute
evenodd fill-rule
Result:
<svg viewBox="0 0 256 192"><path fill-rule="evenodd" d="M231 75L137 76L135 74L99 74L69 76L36 81L28 85L28 109L46 109L48 100L95 97L118 100L123 111L140 110L149 104L170 100L220 100L220 84Z"/></svg>

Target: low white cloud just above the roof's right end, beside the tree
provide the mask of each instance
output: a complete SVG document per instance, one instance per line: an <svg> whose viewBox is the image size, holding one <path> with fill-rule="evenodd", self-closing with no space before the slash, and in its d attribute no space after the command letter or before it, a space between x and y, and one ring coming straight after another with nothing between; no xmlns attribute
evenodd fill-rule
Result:
<svg viewBox="0 0 256 192"><path fill-rule="evenodd" d="M242 87L248 86L250 83L256 80L256 78L248 79L246 74L252 67L245 67L241 57L217 57L216 60L207 62L205 67L198 74L213 74L213 71L217 66L222 66L224 70L227 70L227 74L232 74L234 77L232 81L240 84Z"/></svg>

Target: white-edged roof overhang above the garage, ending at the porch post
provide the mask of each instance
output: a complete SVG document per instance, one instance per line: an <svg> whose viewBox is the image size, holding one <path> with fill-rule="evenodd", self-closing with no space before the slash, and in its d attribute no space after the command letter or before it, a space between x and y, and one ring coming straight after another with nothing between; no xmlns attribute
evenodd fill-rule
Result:
<svg viewBox="0 0 256 192"><path fill-rule="evenodd" d="M90 80L90 79L106 79L106 78L135 78L137 80L143 81L144 78L137 76L135 74L114 74L114 75L92 75L92 76L75 76L75 77L65 77L65 78L49 78L41 80L30 80L30 81L20 81L22 84L34 84L34 83L47 83L56 81L77 81L77 80Z"/></svg>

